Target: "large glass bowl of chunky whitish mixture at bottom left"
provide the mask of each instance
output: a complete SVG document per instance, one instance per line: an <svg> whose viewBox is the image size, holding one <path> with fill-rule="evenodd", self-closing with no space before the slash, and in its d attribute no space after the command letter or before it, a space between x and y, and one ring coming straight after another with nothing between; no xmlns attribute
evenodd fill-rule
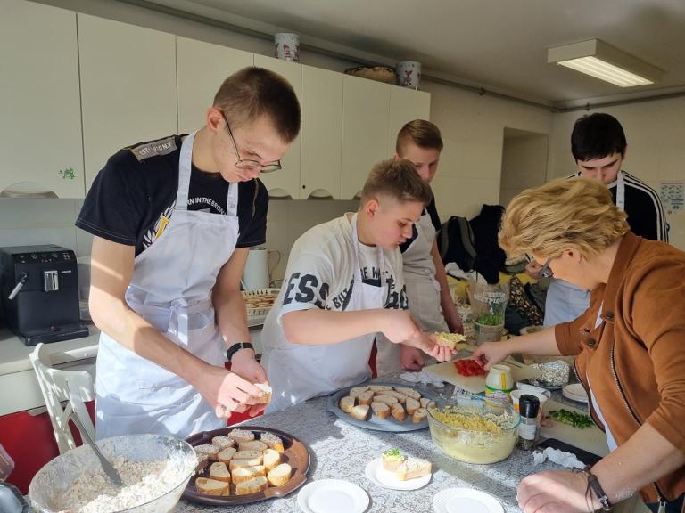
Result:
<svg viewBox="0 0 685 513"><path fill-rule="evenodd" d="M124 485L112 485L87 445L58 456L29 485L41 513L162 513L174 508L194 474L193 447L174 436L127 435L97 442Z"/></svg>

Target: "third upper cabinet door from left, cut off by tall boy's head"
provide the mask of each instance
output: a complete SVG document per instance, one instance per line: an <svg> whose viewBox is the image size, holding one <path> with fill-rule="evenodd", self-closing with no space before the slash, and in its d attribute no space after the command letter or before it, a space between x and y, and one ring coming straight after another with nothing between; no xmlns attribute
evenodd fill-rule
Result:
<svg viewBox="0 0 685 513"><path fill-rule="evenodd" d="M178 132L202 128L224 80L253 64L254 53L177 37Z"/></svg>

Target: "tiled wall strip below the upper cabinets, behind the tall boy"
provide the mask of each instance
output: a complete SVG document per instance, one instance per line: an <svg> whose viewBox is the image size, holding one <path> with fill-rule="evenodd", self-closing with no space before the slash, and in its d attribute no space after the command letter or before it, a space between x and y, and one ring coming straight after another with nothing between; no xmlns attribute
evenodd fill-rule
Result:
<svg viewBox="0 0 685 513"><path fill-rule="evenodd" d="M0 199L0 247L58 244L77 256L89 255L91 235L74 226L82 204L82 199ZM266 246L281 255L280 262L271 256L272 279L283 278L290 248L302 233L357 206L357 201L272 199Z"/></svg>

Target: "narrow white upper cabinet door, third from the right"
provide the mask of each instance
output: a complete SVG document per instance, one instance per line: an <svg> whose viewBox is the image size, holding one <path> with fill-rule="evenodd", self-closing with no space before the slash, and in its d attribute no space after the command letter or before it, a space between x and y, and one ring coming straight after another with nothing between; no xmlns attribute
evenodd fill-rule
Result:
<svg viewBox="0 0 685 513"><path fill-rule="evenodd" d="M342 78L302 66L301 199L341 199Z"/></svg>

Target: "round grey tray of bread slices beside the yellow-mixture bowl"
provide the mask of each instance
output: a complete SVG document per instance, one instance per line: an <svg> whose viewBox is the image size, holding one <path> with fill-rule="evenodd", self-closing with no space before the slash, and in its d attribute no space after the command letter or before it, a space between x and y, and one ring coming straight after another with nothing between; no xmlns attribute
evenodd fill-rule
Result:
<svg viewBox="0 0 685 513"><path fill-rule="evenodd" d="M416 431L428 427L431 392L400 383L367 381L345 387L328 399L328 411L359 428Z"/></svg>

